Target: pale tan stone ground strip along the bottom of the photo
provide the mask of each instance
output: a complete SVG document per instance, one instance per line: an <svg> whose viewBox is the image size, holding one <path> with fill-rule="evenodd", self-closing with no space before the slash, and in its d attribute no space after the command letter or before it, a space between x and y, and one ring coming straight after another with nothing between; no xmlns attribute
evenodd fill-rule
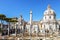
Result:
<svg viewBox="0 0 60 40"><path fill-rule="evenodd" d="M0 39L4 39L4 40L60 40L60 36L58 37L52 36L52 35L51 36L47 35L47 37L43 35L22 36L18 34L17 37L12 36L12 35L0 36Z"/></svg>

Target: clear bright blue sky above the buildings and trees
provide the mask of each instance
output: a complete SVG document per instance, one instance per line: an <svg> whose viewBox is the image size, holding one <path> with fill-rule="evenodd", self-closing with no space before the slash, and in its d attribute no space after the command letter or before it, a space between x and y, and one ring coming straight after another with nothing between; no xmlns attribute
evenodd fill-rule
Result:
<svg viewBox="0 0 60 40"><path fill-rule="evenodd" d="M7 17L20 17L29 21L29 12L33 11L33 20L41 20L48 4L56 13L56 18L60 19L60 0L0 0L0 14Z"/></svg>

